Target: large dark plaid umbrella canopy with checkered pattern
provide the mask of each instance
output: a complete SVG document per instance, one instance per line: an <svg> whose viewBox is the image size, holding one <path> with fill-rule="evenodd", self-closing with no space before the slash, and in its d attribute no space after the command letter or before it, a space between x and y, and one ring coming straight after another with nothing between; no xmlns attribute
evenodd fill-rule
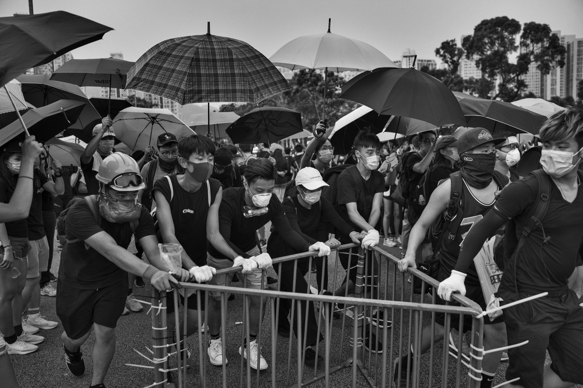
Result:
<svg viewBox="0 0 583 388"><path fill-rule="evenodd" d="M278 69L247 43L192 35L160 42L138 59L126 88L191 102L259 102L291 90Z"/></svg>

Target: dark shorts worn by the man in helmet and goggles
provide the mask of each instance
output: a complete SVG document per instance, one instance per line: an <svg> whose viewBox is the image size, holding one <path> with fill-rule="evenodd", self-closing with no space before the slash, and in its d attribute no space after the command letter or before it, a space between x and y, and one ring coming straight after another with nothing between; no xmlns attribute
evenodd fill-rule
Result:
<svg viewBox="0 0 583 388"><path fill-rule="evenodd" d="M93 323L115 328L124 312L128 284L97 290L80 290L57 281L57 316L67 336L76 340L91 330Z"/></svg>

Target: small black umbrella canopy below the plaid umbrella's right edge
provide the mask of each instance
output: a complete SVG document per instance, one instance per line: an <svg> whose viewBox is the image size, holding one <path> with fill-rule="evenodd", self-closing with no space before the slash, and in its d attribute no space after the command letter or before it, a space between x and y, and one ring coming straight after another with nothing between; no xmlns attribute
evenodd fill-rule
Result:
<svg viewBox="0 0 583 388"><path fill-rule="evenodd" d="M236 144L271 144L301 131L300 112L278 106L255 108L227 128Z"/></svg>

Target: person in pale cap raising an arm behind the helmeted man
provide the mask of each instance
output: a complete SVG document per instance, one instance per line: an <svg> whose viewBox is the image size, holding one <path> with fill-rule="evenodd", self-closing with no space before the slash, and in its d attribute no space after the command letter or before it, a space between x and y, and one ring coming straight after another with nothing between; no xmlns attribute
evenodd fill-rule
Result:
<svg viewBox="0 0 583 388"><path fill-rule="evenodd" d="M99 171L103 159L113 151L115 132L111 123L110 116L105 116L101 119L101 124L93 127L93 138L81 155L81 169L89 195L99 193L99 181L96 179L97 171Z"/></svg>

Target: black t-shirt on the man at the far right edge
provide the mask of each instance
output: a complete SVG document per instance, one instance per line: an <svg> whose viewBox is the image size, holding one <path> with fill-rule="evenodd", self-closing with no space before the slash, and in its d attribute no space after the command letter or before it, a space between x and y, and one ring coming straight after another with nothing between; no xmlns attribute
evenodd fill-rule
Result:
<svg viewBox="0 0 583 388"><path fill-rule="evenodd" d="M514 292L515 278L518 290L525 293L566 289L583 239L581 177L579 175L577 197L571 203L563 199L554 182L551 184L549 208L542 219L542 227L533 230L522 251L517 252L516 273L514 265L505 266L501 290ZM537 194L538 181L536 177L528 176L504 188L494 205L494 211L502 218L514 218L517 239L528 221ZM545 236L550 239L543 245Z"/></svg>

